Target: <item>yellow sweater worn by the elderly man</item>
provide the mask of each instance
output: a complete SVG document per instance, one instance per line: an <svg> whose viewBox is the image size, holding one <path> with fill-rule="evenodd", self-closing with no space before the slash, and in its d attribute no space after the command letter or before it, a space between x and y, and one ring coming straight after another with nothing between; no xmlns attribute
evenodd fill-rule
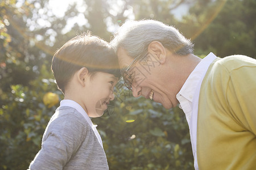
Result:
<svg viewBox="0 0 256 170"><path fill-rule="evenodd" d="M201 85L199 169L256 169L256 60L217 58Z"/></svg>

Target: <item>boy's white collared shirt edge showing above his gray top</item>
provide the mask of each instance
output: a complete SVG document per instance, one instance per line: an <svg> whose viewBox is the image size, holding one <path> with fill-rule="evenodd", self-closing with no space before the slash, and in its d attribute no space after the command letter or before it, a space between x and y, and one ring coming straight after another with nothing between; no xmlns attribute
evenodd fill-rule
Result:
<svg viewBox="0 0 256 170"><path fill-rule="evenodd" d="M98 139L98 142L100 142L101 147L103 148L101 136L98 133L98 130L96 129L97 125L93 125L92 120L90 120L90 117L84 111L84 109L81 107L81 105L76 103L76 101L73 101L73 100L61 100L60 107L63 107L63 106L72 107L72 108L76 109L79 113L82 114L82 116L85 118L85 120L88 122L88 124L92 128L94 134L96 135L96 137Z"/></svg>

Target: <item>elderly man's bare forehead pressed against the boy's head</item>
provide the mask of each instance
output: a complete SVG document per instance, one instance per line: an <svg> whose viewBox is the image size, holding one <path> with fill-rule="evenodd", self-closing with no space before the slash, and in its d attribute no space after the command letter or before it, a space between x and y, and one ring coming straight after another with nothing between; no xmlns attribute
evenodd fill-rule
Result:
<svg viewBox="0 0 256 170"><path fill-rule="evenodd" d="M125 49L119 48L117 50L117 56L118 56L118 62L119 62L119 68L127 69L127 67L133 62L133 58L131 58Z"/></svg>

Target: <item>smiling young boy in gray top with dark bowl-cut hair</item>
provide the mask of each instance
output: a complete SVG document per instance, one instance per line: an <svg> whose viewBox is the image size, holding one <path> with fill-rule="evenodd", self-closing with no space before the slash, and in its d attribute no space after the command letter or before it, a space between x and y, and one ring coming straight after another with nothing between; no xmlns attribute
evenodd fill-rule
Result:
<svg viewBox="0 0 256 170"><path fill-rule="evenodd" d="M109 169L100 134L89 117L100 117L114 99L117 57L108 42L83 34L53 56L52 72L64 94L49 121L42 149L30 169Z"/></svg>

